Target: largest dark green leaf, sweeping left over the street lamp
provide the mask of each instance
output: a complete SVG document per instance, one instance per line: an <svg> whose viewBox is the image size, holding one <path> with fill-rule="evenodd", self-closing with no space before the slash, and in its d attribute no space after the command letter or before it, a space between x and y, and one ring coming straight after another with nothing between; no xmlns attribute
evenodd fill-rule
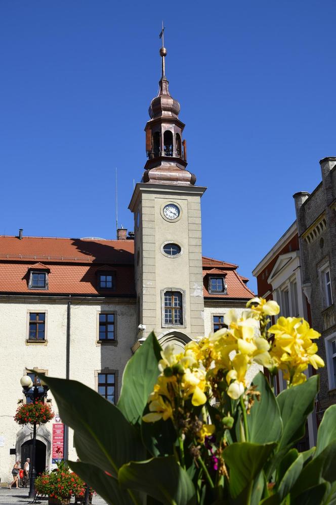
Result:
<svg viewBox="0 0 336 505"><path fill-rule="evenodd" d="M81 461L116 476L124 463L146 457L140 434L115 405L80 382L49 376L43 380L54 395L62 421L74 430Z"/></svg>

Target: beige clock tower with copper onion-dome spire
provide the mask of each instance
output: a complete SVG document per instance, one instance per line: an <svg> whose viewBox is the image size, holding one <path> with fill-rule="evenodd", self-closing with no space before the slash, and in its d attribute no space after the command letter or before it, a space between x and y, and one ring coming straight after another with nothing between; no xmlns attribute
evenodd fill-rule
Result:
<svg viewBox="0 0 336 505"><path fill-rule="evenodd" d="M166 49L146 124L147 162L129 205L134 213L138 339L154 330L161 345L204 335L200 199L187 169L180 104L169 92Z"/></svg>

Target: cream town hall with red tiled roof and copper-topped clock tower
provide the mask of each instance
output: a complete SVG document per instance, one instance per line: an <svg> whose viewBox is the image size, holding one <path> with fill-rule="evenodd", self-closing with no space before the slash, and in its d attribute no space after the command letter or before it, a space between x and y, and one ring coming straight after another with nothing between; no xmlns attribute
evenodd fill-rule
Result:
<svg viewBox="0 0 336 505"><path fill-rule="evenodd" d="M116 402L125 364L155 331L162 346L183 347L224 325L230 308L254 296L237 265L202 256L206 188L187 169L180 105L169 93L161 48L159 94L150 105L148 160L131 198L134 233L117 240L0 237L0 477L31 451L32 428L13 416L26 401L28 370L79 380ZM31 373L34 383L37 376ZM57 405L53 401L57 414ZM37 473L51 468L57 417L37 428ZM64 456L76 458L65 427Z"/></svg>

